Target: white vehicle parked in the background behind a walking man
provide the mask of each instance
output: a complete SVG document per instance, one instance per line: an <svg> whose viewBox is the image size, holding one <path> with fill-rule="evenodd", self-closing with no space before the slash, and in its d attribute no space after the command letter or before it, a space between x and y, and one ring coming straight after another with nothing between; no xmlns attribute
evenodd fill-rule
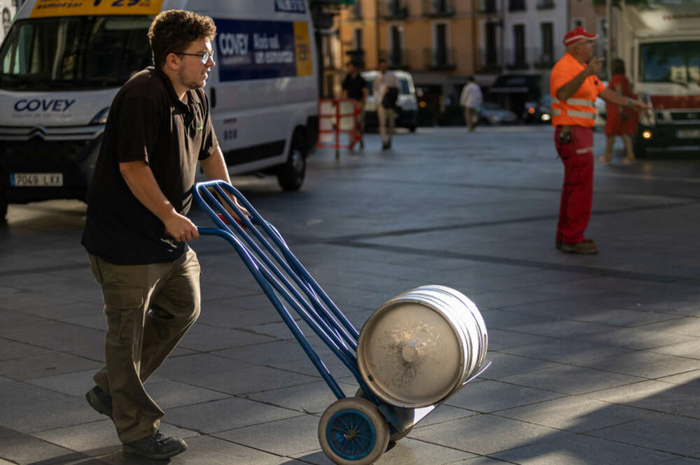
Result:
<svg viewBox="0 0 700 465"><path fill-rule="evenodd" d="M396 112L396 127L405 127L413 132L418 126L418 99L416 99L416 87L413 84L413 76L406 71L391 71L394 73L399 83L398 99L396 106L399 110ZM377 103L372 96L372 85L374 78L377 77L379 71L363 71L362 77L367 81L367 86L370 88L370 94L367 96L365 103L365 127L377 127Z"/></svg>

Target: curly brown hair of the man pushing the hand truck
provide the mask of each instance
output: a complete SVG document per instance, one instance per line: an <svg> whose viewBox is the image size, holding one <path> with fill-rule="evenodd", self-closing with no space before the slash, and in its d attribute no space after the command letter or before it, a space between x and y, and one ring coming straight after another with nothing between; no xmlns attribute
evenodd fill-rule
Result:
<svg viewBox="0 0 700 465"><path fill-rule="evenodd" d="M169 54L183 52L190 43L200 38L213 41L214 36L216 25L209 16L186 10L161 11L148 28L153 64L156 68L161 68Z"/></svg>

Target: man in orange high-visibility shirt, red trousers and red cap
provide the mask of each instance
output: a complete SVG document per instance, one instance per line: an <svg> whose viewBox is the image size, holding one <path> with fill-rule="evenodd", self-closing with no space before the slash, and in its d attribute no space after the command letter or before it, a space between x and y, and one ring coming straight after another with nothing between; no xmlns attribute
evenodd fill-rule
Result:
<svg viewBox="0 0 700 465"><path fill-rule="evenodd" d="M566 33L564 56L549 77L552 95L554 145L564 165L564 182L556 227L556 248L563 252L596 254L595 241L584 236L593 201L593 126L598 96L614 105L637 111L650 109L644 103L605 89L596 76L603 59L593 55L598 37L579 26Z"/></svg>

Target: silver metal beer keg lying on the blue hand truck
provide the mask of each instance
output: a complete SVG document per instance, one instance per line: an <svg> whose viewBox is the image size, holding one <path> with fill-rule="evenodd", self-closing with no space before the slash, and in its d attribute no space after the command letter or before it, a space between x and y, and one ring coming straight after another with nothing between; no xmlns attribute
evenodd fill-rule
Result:
<svg viewBox="0 0 700 465"><path fill-rule="evenodd" d="M403 408L438 403L479 370L488 345L477 306L449 287L416 287L372 314L360 332L358 367L382 401Z"/></svg>

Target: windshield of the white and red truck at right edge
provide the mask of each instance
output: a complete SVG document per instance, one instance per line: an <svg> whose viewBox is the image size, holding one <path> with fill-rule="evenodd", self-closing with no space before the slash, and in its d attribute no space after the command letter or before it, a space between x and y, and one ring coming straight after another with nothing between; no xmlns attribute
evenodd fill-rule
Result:
<svg viewBox="0 0 700 465"><path fill-rule="evenodd" d="M639 80L643 83L696 83L700 79L700 41L643 43Z"/></svg>

